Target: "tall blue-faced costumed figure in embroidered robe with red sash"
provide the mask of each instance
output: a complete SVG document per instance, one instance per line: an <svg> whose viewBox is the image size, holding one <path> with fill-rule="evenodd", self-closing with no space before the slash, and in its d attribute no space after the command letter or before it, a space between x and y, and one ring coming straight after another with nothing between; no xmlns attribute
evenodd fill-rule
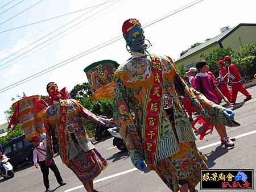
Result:
<svg viewBox="0 0 256 192"><path fill-rule="evenodd" d="M146 52L137 19L126 20L122 32L131 59L114 74L114 122L131 161L140 170L146 165L155 170L172 191L195 191L200 170L207 165L180 97L189 99L211 122L238 126L234 113L189 88L170 57Z"/></svg>

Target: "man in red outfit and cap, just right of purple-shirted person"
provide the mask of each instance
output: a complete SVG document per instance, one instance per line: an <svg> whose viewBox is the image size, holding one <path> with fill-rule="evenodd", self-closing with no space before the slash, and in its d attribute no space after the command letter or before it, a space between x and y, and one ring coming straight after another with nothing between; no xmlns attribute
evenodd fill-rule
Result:
<svg viewBox="0 0 256 192"><path fill-rule="evenodd" d="M220 91L229 101L231 101L232 94L228 86L228 72L226 71L226 68L223 66L223 64L224 61L222 60L217 62L217 65L220 68L220 76L218 77L218 81L220 83Z"/></svg>

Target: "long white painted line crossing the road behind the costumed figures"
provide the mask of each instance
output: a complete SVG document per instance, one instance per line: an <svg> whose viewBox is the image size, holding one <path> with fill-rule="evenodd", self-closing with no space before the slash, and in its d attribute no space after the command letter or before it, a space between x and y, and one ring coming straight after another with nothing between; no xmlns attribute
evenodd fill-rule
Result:
<svg viewBox="0 0 256 192"><path fill-rule="evenodd" d="M247 132L247 133L243 133L241 135L234 136L234 138L238 139L238 138L245 137L245 136L248 136L248 135L251 135L251 134L254 134L254 133L256 133L256 130L250 131L250 132ZM199 147L198 149L201 150L201 149L213 147L214 145L218 145L218 144L221 144L221 141L218 141L218 142L215 142L215 143L212 143L212 144L209 144L209 145L205 145L203 147ZM109 180L110 178L121 176L122 174L134 172L135 170L138 170L138 169L137 168L133 168L133 169L126 170L125 172L116 173L116 174L113 174L112 176L108 176L108 177L104 177L104 178L100 178L98 180L95 180L95 181L93 181L93 183ZM80 189L82 187L84 187L84 185L73 187L72 189L65 190L64 192L74 191L74 190Z"/></svg>

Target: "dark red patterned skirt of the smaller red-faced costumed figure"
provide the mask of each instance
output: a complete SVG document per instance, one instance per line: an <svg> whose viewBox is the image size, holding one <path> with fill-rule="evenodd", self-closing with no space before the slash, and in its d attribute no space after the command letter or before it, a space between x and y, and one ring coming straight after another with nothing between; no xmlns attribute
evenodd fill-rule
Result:
<svg viewBox="0 0 256 192"><path fill-rule="evenodd" d="M108 162L96 149L87 152L81 151L75 158L69 161L69 168L81 182L93 180L107 166Z"/></svg>

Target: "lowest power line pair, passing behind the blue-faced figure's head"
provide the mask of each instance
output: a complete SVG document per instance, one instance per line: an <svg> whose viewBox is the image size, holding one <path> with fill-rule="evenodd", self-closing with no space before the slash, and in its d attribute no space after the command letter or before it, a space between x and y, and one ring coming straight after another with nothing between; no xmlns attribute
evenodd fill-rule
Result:
<svg viewBox="0 0 256 192"><path fill-rule="evenodd" d="M189 7L192 7L193 5L196 5L197 3L199 3L199 2L203 2L204 0L200 0L200 1L194 1L194 2L192 2L192 3L189 3L188 5L185 5L185 6L183 6L183 7L180 7L180 9L177 9L176 11L172 11L172 12L170 12L170 16L171 15L174 15L174 14L176 14L176 13L178 13L178 12L180 12L180 11L183 11L183 10L185 10L185 9L188 9ZM161 20L163 20L163 19L166 19L166 18L168 18L168 15L164 15L164 16L162 16L162 17L160 17L158 20L155 20L153 23L151 23L151 22L149 22L149 23L151 23L151 24L147 24L147 26L145 26L144 28L146 28L146 27L148 27L148 26L151 26L152 24L154 24L154 23L157 23L157 22L160 22ZM75 61L75 60L77 60L77 59L80 59L81 57L84 57L85 55L88 55L89 53L92 53L92 52L94 52L94 51L97 51L98 49L101 49L101 48L104 48L104 47L106 47L107 45L110 45L110 44L112 44L112 43L115 43L116 41L118 41L118 40L120 40L120 39L122 39L122 35L119 35L119 36L117 36L117 37L115 37L115 38L113 38L113 39L111 39L111 40L108 40L108 41L106 41L105 43L102 43L102 44L100 44L100 45L97 45L96 47L93 47L93 48L91 48L91 49L89 49L89 50L87 50L87 51L85 51L85 52L82 52L82 53L80 53L79 55L76 55L76 56L73 56L73 57L71 57L71 58L69 58L69 59L67 59L67 60L65 60L65 61L62 61L62 62L60 62L59 64L56 64L56 65L53 65L53 66L51 66L51 67L49 67L49 68L47 68L47 69L44 69L44 70L42 70L41 72L38 72L38 73L36 73L36 74L34 74L34 75L32 75L32 76L30 76L30 77L27 77L27 78L24 78L23 80L20 80L20 81L18 81L18 82L16 82L15 84L12 84L12 85L9 85L9 86L7 86L7 87L4 87L3 89L0 89L0 93L3 93L3 92L5 92L5 91L7 91L7 90L10 90L10 89L13 89L14 87L16 87L16 86L19 86L19 85L22 85L22 84L24 84L24 83L26 83L26 82L28 82L28 81L31 81L31 80L33 80L34 78L37 78L37 77L39 77L39 76L42 76L43 74L46 74L46 73L48 73L48 72L51 72L52 70L55 70L55 69L57 69L57 68L60 68L61 66L63 66L63 65L67 65L67 64L69 64L70 62L72 62L72 61ZM70 60L70 61L69 61ZM60 65L61 64L61 65ZM60 66L58 66L58 65L60 65ZM54 68L56 66L56 68ZM51 68L53 68L53 69L51 69ZM49 70L49 69L51 69L51 70ZM48 70L48 71L47 71ZM42 72L44 72L44 73L42 73ZM42 73L42 74L40 74L40 73ZM31 78L31 77L33 77L33 78ZM18 85L17 85L18 84ZM14 86L13 86L14 85ZM10 87L10 88L9 88ZM6 88L9 88L9 89L6 89Z"/></svg>

